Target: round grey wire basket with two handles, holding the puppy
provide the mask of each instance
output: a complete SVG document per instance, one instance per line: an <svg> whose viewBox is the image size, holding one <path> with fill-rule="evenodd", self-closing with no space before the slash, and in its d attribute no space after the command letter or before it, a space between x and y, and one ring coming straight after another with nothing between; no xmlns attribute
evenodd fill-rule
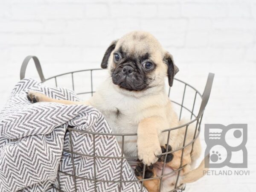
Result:
<svg viewBox="0 0 256 192"><path fill-rule="evenodd" d="M26 67L27 67L27 64L29 63L29 60L31 58L33 58L33 60L35 62L35 66L36 66L36 69L38 71L38 74L40 76L40 79L41 79L42 83L50 81L50 80L53 80L55 86L58 87L58 79L59 78L63 79L63 77L65 77L65 78L69 79L69 81L71 81L71 85L72 85L71 89L73 89L76 92L76 94L81 95L81 96L83 96L83 95L93 96L93 93L95 93L95 91L94 91L94 85L95 85L95 80L96 80L95 77L94 77L95 73L97 71L99 71L99 70L103 70L103 69L78 70L78 71L72 71L72 72L69 72L69 73L59 74L59 75L52 76L52 77L49 77L49 78L45 79L44 78L44 74L42 72L41 64L40 64L38 58L35 57L35 56L27 56L24 59L23 64L22 64L21 69L20 69L20 79L24 79L25 73L26 73ZM76 91L76 83L74 82L74 77L78 73L81 73L81 72L86 72L87 74L89 74L90 90L78 92L78 91ZM186 82L181 81L181 80L175 78L175 81L177 81L177 82L179 82L180 84L183 85L183 86L179 86L179 87L183 87L183 88L182 88L181 94L178 95L178 98L182 98L182 100L180 102L179 101L175 101L175 100L171 100L171 101L172 101L172 103L174 103L176 105L176 107L178 107L179 119L181 119L181 117L183 117L183 113L186 112L186 117L188 119L190 119L190 121L187 122L184 125L180 125L180 126L169 128L169 129L165 129L163 131L163 132L167 132L168 133L168 140L169 140L170 132L172 130L175 130L175 129L178 129L178 128L182 128L182 127L186 127L186 131L185 131L185 135L184 135L184 140L183 140L183 146L181 148L179 148L179 149L172 150L172 151L167 151L167 152L162 154L162 155L167 156L167 154L169 154L169 153L172 153L172 152L178 151L178 150L182 150L181 161L180 161L180 168L173 171L173 172L177 172L177 179L176 179L176 182L175 182L175 189L172 189L169 192L178 192L178 191L180 192L180 191L183 191L185 189L185 184L181 184L181 185L178 186L178 180L179 180L179 177L180 177L180 171L185 166L185 165L182 165L183 151L184 151L184 148L188 147L189 145L192 145L192 150L193 150L194 142L195 142L195 140L198 138L198 136L200 134L201 121L202 121L202 117L203 117L203 114L204 114L204 109L205 109L205 107L207 105L207 102L209 100L210 92L211 92L211 89L212 89L213 78L214 78L214 74L213 73L209 73L208 78L207 78L207 83L205 85L205 89L204 89L204 93L203 94L201 94L197 89L195 89L191 85L187 84ZM170 90L171 90L171 87L169 87L169 90L168 90L168 96L169 97L170 97ZM186 102L185 102L185 96L186 96L188 90L190 92L190 95L192 95L192 97L190 98L191 105L186 105ZM191 93L191 92L193 92L193 93ZM199 101L198 101L198 99L199 99ZM198 108L198 109L196 109L196 108ZM191 123L193 123L193 122L195 122L195 126L196 126L195 127L195 133L194 133L194 136L193 136L193 140L191 142L189 142L189 143L186 143L187 129L188 129L188 126ZM124 137L131 137L131 136L137 135L137 133L131 133L131 134L104 134L104 133L96 133L96 132L91 132L91 131L81 131L81 130L77 130L77 129L71 128L71 127L68 127L67 131L69 131L70 133L71 133L71 131L76 131L76 132L80 132L80 133L88 133L88 134L92 134L93 137L96 137L97 135L108 135L108 136L112 135L112 136L116 136L116 137L122 137L122 145L124 143ZM71 143L71 150L70 151L64 150L64 152L70 153L71 156L73 157L73 155L75 153L73 152L72 140L70 140L70 143ZM93 145L95 146L95 143L93 143ZM167 143L167 145L168 145L168 143ZM122 148L122 151L121 151L122 156L121 157L109 157L109 158L111 158L111 159L113 159L113 158L114 159L128 159L129 157L123 156L123 146L121 146L121 148ZM88 157L87 154L80 154L80 155ZM101 156L96 156L96 155L90 155L90 157L93 157L94 160L96 158L102 158ZM103 157L103 158L108 158L108 157ZM73 168L74 168L74 162L72 162L72 163L73 163ZM164 158L163 167L165 166L165 164L166 164L166 157ZM121 166L122 166L122 163L121 163ZM94 172L95 172L95 170L96 169L95 169L95 164L94 164ZM58 177L59 177L60 173L73 177L73 181L74 181L74 184L75 184L74 185L75 186L75 192L78 191L77 186L76 186L76 178L83 179L83 180L93 181L95 183L95 192L96 192L96 183L97 182L119 183L119 186L120 186L119 187L119 192L121 192L121 183L123 183L123 182L141 182L142 183L141 191L142 191L143 190L143 182L145 180L151 180L151 179L160 178L160 189L159 189L159 192L160 192L163 177L166 177L166 176L168 176L170 174L173 174L173 172L170 172L170 173L167 173L167 174L163 174L163 172L162 172L162 175L160 175L158 177L147 178L147 179L140 179L140 180L131 180L131 181L124 181L122 179L119 180L119 181L116 181L116 180L97 180L96 178L89 179L89 178L85 178L85 177L78 177L76 174L70 175L69 173L61 172L60 170L58 170ZM74 170L73 170L73 173L74 173ZM96 172L95 172L95 175L96 175ZM120 176L121 175L122 175L122 169L120 171ZM144 165L144 168L143 168L143 178L144 178L144 175L145 175L145 165ZM60 189L60 181L59 181L58 177L57 177L57 180L58 180L59 188L57 188L56 186L53 186L53 187L56 190L58 190L60 192L63 192ZM122 178L122 177L120 177L120 178Z"/></svg>

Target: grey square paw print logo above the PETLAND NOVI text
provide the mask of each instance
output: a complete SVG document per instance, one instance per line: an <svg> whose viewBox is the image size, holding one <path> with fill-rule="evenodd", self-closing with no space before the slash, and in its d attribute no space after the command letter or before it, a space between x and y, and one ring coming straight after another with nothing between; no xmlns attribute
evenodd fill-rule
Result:
<svg viewBox="0 0 256 192"><path fill-rule="evenodd" d="M247 124L205 124L204 138L207 144L205 156L210 155L209 161L205 161L206 167L247 168Z"/></svg>

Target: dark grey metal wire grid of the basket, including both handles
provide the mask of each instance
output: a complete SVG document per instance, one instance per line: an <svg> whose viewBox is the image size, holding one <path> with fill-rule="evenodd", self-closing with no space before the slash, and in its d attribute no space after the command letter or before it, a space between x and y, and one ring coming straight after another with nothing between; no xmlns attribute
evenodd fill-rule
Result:
<svg viewBox="0 0 256 192"><path fill-rule="evenodd" d="M93 72L95 71L98 71L98 70L102 70L102 69L88 69L88 70L78 70L78 71L72 71L72 72L69 72L69 73L63 73L63 74L60 74L60 75L56 75L56 76L52 76L50 78L47 78L45 79L44 78L44 74L42 72L42 69L41 69L41 64L38 60L37 57L35 56L27 56L25 58L25 60L23 61L23 64L21 66L21 70L20 70L20 79L23 79L25 77L25 73L26 73L26 67L27 67L27 64L29 63L29 60L30 59L33 59L34 62L35 62L35 66L36 66L36 69L38 71L38 74L40 76L40 79L41 79L41 82L44 83L44 82L47 82L51 79L54 80L55 82L55 86L58 87L58 78L59 77L63 77L63 76L67 76L67 75L71 75L71 81L72 81L72 89L75 91L75 83L74 83L74 76L77 74L77 73L80 73L80 72L89 72L90 73L90 91L86 91L86 92L80 92L80 93L77 93L78 95L85 95L85 94L90 94L91 96L93 96L93 93L95 93L95 91L93 90ZM70 77L69 77L70 78ZM69 137L70 137L70 151L69 150L63 150L64 152L67 152L67 153L70 153L71 154L71 158L72 158L72 167L73 167L73 174L69 174L67 172L62 172L61 170L58 170L58 176L57 176L57 181L58 181L58 187L56 186L53 186L56 190L58 190L59 192L64 192L63 190L61 190L61 182L60 182L60 174L64 174L64 175L68 175L68 176L71 176L73 177L73 182L74 182L74 186L75 186L75 192L78 192L78 187L77 187L77 183L76 183L76 179L82 179L82 180L89 180L89 181L93 181L94 182L94 190L96 192L96 183L97 182L113 182L113 183L119 183L119 192L122 191L122 185L121 183L124 183L124 182L141 182L141 192L143 191L143 182L145 180L153 180L153 179L160 179L160 189L159 189L159 192L161 191L161 186L163 184L163 177L166 177L168 175L171 175L173 174L174 172L177 172L177 179L176 179L176 182L175 182L175 188L170 190L169 192L177 192L177 191L183 191L185 189L185 184L180 184L178 186L178 181L179 181L179 177L180 177L180 171L183 169L184 166L186 165L183 165L182 164L182 160L183 160L183 153L184 153L184 148L188 147L189 145L192 145L192 150L190 153L192 153L193 151L193 146L194 146L194 142L195 140L198 138L199 134L200 134L200 130L201 130L201 122L202 122L202 118L203 118L203 114L204 114L204 109L207 105L207 102L208 102L208 99L209 99L209 96L210 96L210 92L211 92L211 88L212 88L212 82L213 82L213 78L214 78L214 74L213 73L209 73L208 75L208 79L207 79L207 83L206 83L206 86L205 86L205 89L204 89L204 93L201 94L197 89L195 89L195 87L192 87L191 85L187 84L186 82L184 81L181 81L179 79L176 79L175 78L175 81L179 81L181 84L184 85L183 87L183 93L182 93L182 101L181 103L179 102L176 102L176 101L172 101L172 103L175 103L177 106L180 107L179 109L179 120L181 119L182 117L182 113L184 110L188 111L190 113L190 121L187 122L186 124L184 125L179 125L177 127L174 127L174 128L168 128L168 129L165 129L163 130L162 132L167 132L168 133L168 139L167 139L167 146L169 145L169 137L170 137L170 132L172 130L175 130L175 129L179 129L179 128L183 128L183 127L186 127L185 129L185 134L184 134L184 139L183 139L183 145L181 148L178 148L178 149L175 149L175 150L171 150L171 151L168 151L168 148L166 148L166 152L162 153L162 155L165 155L164 157L164 161L163 161L163 169L162 169L162 174L160 176L157 176L157 177L153 177L153 178L145 178L145 165L143 166L143 176L142 178L143 179L140 179L140 180L122 180L122 165L123 165L123 160L124 159L129 159L129 158L136 158L136 157L125 157L124 156L124 140L125 140L125 137L129 137L129 136L136 136L137 133L131 133L131 134L110 134L110 133L98 133L98 132L92 132L92 131L83 131L83 130L77 130L75 128L72 128L72 127L68 127L67 128L67 132L69 132ZM189 107L186 107L184 106L184 98L185 98L185 95L186 95L186 90L188 89L188 87L194 91L194 98L193 98L193 102L192 102L192 106L191 106L191 110L189 109ZM168 96L170 96L170 92L171 92L171 87L169 87L169 90L168 90ZM196 114L195 112L195 103L196 101L199 99L201 99L201 102L200 102L200 108L198 110L198 113ZM188 126L193 123L193 122L196 122L196 125L195 125L195 133L194 133L194 136L193 136L193 140L189 143L186 144L186 136L187 136L187 131L188 131ZM93 155L89 155L89 154L81 154L79 152L74 152L73 151L73 141L72 141L72 137L71 137L71 132L72 131L76 131L76 132L80 132L80 133L86 133L86 134L91 134L93 136ZM95 137L97 135L111 135L111 136L115 136L115 137L122 137L122 145L120 146L121 147L121 156L120 157L106 157L106 156L97 156L95 155ZM180 159L180 167L179 169L176 169L176 170L173 170L172 172L169 172L169 173L166 173L164 174L164 169L165 169L165 165L166 165L166 158L167 158L167 154L170 154L170 153L173 153L175 151L179 151L179 150L182 150L181 152L181 159ZM83 156L83 157L93 157L93 172L94 172L94 178L91 179L91 178L86 178L86 177L79 177L78 175L76 175L76 170L75 170L75 165L74 165L74 154L75 155L80 155L80 156ZM121 167L120 167L120 180L99 180L97 179L96 175L97 175L97 172L96 172L96 158L110 158L110 159L121 159Z"/></svg>

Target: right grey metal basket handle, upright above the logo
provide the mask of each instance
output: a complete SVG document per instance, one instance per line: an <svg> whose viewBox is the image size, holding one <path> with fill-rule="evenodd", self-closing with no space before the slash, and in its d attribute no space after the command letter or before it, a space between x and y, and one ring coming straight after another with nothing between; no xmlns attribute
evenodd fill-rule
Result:
<svg viewBox="0 0 256 192"><path fill-rule="evenodd" d="M204 109L207 105L207 102L208 102L210 94L211 94L213 79L214 79L214 73L209 73L208 78L207 78L207 82L206 82L206 85L205 85L205 88L204 88L204 93L203 93L203 96L202 96L202 102L201 102L200 110L198 112L198 118L204 113Z"/></svg>

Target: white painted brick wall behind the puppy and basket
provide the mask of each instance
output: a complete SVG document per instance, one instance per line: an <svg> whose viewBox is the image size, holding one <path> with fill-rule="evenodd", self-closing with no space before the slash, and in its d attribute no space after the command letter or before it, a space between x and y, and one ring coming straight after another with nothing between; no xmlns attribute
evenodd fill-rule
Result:
<svg viewBox="0 0 256 192"><path fill-rule="evenodd" d="M248 123L250 176L208 176L189 191L255 191L256 0L1 0L0 107L26 55L38 56L46 77L97 68L111 41L134 29L153 33L177 78L199 90L215 73L204 122ZM32 64L26 75L38 78Z"/></svg>

